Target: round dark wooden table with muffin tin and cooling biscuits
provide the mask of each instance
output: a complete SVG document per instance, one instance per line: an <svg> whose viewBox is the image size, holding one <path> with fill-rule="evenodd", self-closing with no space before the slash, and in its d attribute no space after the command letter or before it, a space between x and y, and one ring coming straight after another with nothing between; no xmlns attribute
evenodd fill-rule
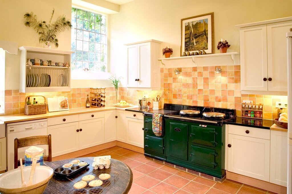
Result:
<svg viewBox="0 0 292 194"><path fill-rule="evenodd" d="M60 160L54 162L46 162L44 165L51 167L53 169L64 165L65 163L70 163L74 159L79 159L80 161L88 162L90 165L80 172L73 174L69 177L61 177L56 176L55 174L50 179L50 182L44 191L44 193L71 193L71 188L74 183L81 180L81 178L89 173L91 173L94 169L92 167L94 157L83 157L83 158L73 158L67 160ZM96 170L94 170L96 171ZM98 169L103 173L115 173L118 174L115 178L115 181L112 181L107 187L104 188L102 193L128 193L133 182L133 173L128 165L122 163L121 161L111 159L111 164L109 168ZM69 189L69 190L68 190ZM70 191L70 192L67 192ZM77 190L76 190L77 191ZM78 193L78 192L77 192Z"/></svg>

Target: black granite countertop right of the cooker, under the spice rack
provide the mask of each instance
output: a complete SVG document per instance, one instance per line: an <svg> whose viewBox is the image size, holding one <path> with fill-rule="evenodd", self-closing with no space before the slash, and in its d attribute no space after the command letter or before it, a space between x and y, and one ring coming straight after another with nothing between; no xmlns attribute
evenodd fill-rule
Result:
<svg viewBox="0 0 292 194"><path fill-rule="evenodd" d="M231 124L231 125L246 126L246 127L270 129L270 127L274 124L274 120L246 119L246 118L242 118L242 117L236 117L236 118L234 118L230 121L224 122L224 123Z"/></svg>

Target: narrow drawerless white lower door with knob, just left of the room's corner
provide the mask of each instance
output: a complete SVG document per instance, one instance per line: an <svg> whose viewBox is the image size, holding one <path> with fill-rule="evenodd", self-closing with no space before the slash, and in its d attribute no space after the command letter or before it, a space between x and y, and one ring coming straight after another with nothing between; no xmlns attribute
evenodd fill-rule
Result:
<svg viewBox="0 0 292 194"><path fill-rule="evenodd" d="M107 110L105 114L105 143L116 140L116 110Z"/></svg>

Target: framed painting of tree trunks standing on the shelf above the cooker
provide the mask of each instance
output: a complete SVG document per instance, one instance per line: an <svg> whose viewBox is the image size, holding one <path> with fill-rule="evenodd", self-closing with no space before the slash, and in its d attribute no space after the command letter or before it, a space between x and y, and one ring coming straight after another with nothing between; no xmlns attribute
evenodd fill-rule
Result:
<svg viewBox="0 0 292 194"><path fill-rule="evenodd" d="M180 27L180 56L183 56L183 52L199 50L205 50L207 54L213 53L214 12L181 19Z"/></svg>

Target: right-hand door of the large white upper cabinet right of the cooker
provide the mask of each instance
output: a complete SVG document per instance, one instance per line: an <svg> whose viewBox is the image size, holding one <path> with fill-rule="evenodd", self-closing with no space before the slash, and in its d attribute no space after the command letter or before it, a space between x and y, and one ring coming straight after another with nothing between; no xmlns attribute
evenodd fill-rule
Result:
<svg viewBox="0 0 292 194"><path fill-rule="evenodd" d="M287 39L292 21L267 24L268 91L287 91Z"/></svg>

